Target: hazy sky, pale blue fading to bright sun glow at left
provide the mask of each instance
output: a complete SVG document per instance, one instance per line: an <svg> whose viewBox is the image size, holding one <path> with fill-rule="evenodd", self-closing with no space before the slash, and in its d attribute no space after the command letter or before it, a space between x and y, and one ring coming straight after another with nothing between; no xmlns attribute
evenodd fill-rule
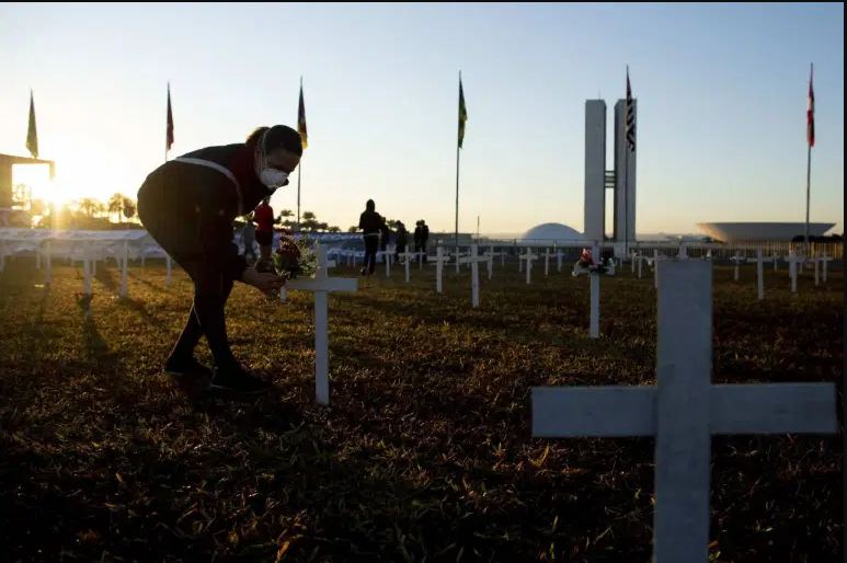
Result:
<svg viewBox="0 0 847 563"><path fill-rule="evenodd" d="M639 101L638 231L844 223L844 5L0 4L0 152L42 158L68 197L135 197L164 158L296 126L302 208L343 229L365 199L453 230L458 71L468 107L460 229L583 228L584 103ZM609 131L609 143L611 131ZM611 150L609 164L611 168ZM274 196L296 204L291 185Z"/></svg>

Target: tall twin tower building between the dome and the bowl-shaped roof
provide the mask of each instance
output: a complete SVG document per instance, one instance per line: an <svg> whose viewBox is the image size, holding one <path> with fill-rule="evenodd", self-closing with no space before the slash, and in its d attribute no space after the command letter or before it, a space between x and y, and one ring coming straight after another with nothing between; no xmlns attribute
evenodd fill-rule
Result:
<svg viewBox="0 0 847 563"><path fill-rule="evenodd" d="M585 101L585 240L607 240L606 194L610 189L615 204L611 240L622 243L621 250L636 242L636 100L629 113L626 100L615 104L614 170L606 170L606 102Z"/></svg>

